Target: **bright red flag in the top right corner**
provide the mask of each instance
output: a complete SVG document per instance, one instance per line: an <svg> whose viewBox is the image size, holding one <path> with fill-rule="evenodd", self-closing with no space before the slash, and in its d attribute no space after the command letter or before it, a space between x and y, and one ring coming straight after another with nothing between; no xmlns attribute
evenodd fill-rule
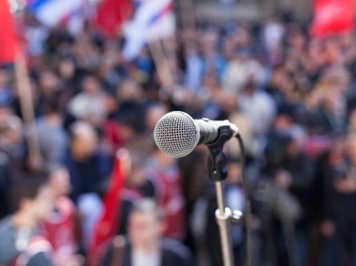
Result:
<svg viewBox="0 0 356 266"><path fill-rule="evenodd" d="M355 25L354 0L315 0L310 31L315 37L350 32Z"/></svg>

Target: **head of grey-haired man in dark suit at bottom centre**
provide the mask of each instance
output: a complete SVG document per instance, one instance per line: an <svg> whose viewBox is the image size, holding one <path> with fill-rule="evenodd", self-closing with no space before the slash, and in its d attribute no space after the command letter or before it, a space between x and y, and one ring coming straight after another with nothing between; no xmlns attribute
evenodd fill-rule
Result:
<svg viewBox="0 0 356 266"><path fill-rule="evenodd" d="M157 245L165 229L165 216L154 201L142 199L133 205L128 231L134 249L149 249Z"/></svg>

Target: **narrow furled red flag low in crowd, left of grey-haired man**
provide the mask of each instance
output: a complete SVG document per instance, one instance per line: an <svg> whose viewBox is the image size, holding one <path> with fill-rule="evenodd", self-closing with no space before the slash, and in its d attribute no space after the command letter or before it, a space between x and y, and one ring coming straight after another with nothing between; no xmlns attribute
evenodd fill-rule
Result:
<svg viewBox="0 0 356 266"><path fill-rule="evenodd" d="M114 162L109 192L107 192L104 197L104 214L97 224L93 247L90 249L90 265L100 265L100 258L102 258L108 242L115 236L120 226L120 192L122 187L124 187L124 179L128 171L128 166L129 153L124 149L118 150Z"/></svg>

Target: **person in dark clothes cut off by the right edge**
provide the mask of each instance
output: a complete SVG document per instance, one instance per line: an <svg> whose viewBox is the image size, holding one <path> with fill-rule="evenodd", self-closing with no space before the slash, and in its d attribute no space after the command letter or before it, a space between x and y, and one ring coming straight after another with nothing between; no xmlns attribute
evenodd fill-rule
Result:
<svg viewBox="0 0 356 266"><path fill-rule="evenodd" d="M324 181L324 237L321 265L356 265L355 221L356 204L356 135L348 134L342 145L344 152L330 156ZM331 154L331 155L332 155ZM337 156L339 155L339 156ZM341 155L341 156L340 156Z"/></svg>

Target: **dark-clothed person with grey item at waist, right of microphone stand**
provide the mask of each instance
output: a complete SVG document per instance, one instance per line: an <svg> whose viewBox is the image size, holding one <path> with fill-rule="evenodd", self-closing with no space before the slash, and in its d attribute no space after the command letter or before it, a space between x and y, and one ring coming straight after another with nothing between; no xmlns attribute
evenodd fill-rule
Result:
<svg viewBox="0 0 356 266"><path fill-rule="evenodd" d="M265 148L266 162L262 174L269 181L265 187L265 205L269 211L261 213L266 246L276 245L277 265L307 263L308 242L308 192L314 176L310 158L292 132L274 130ZM269 230L279 235L279 241L272 240ZM298 247L298 243L301 246ZM282 252L281 250L284 250ZM271 252L268 252L271 255ZM286 264L287 263L287 264Z"/></svg>

